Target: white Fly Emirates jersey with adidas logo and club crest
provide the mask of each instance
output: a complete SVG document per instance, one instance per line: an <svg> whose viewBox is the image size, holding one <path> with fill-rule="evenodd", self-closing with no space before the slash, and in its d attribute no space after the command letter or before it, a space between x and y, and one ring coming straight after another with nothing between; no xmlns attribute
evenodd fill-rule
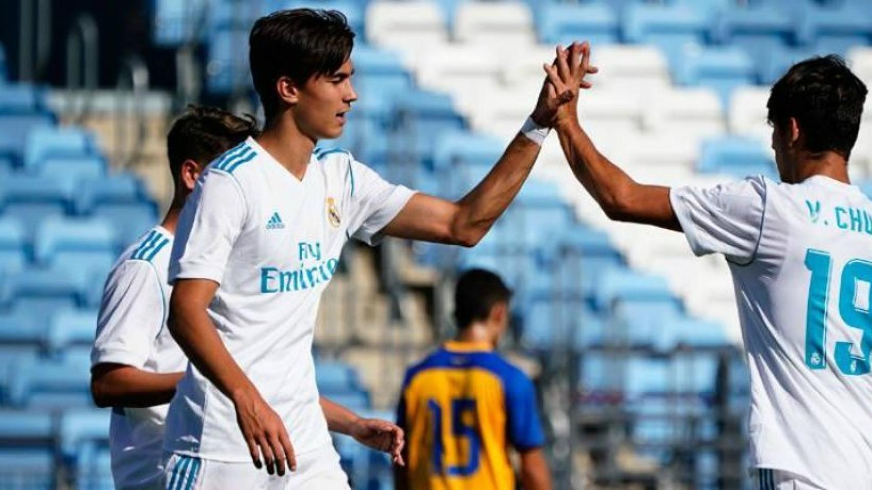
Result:
<svg viewBox="0 0 872 490"><path fill-rule="evenodd" d="M330 446L311 356L321 294L345 241L378 241L411 197L345 151L313 154L298 180L249 138L208 167L181 212L169 279L220 284L209 317L297 454ZM170 404L165 447L250 460L233 404L194 366Z"/></svg>

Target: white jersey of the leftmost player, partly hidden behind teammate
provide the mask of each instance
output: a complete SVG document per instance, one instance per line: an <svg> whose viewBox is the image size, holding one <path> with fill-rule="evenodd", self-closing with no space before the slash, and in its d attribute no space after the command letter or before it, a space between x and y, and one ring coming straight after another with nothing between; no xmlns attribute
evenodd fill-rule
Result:
<svg viewBox="0 0 872 490"><path fill-rule="evenodd" d="M184 371L187 359L165 326L167 264L173 235L158 226L121 254L106 278L92 366L133 366L152 373ZM115 408L109 425L115 487L154 485L162 472L167 405Z"/></svg>

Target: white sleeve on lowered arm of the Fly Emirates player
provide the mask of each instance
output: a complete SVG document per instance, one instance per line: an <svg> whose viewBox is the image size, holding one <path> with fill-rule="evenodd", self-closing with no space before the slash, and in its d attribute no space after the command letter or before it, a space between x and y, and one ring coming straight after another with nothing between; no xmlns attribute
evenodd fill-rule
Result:
<svg viewBox="0 0 872 490"><path fill-rule="evenodd" d="M246 201L236 179L225 172L208 171L181 211L169 261L170 284L177 279L210 279L221 284L246 216Z"/></svg>

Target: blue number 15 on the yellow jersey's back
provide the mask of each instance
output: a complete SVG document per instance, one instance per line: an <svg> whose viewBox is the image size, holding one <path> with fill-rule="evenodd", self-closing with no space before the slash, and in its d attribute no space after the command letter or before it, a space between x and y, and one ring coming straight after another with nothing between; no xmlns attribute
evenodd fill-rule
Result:
<svg viewBox="0 0 872 490"><path fill-rule="evenodd" d="M434 473L443 473L442 458L444 448L442 446L442 407L434 399L427 401L430 416L433 417L433 453L431 454ZM464 413L475 414L474 399L451 400L451 437L456 441L467 441L469 447L469 460L465 465L449 466L447 474L450 476L471 476L479 469L481 441L475 426L467 424L463 420Z"/></svg>

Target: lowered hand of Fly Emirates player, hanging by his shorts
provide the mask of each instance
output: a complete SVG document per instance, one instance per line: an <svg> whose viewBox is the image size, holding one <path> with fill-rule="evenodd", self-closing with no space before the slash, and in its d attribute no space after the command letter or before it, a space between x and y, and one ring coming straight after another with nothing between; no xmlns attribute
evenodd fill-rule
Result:
<svg viewBox="0 0 872 490"><path fill-rule="evenodd" d="M278 414L263 401L260 393L252 388L248 393L235 397L236 422L249 446L255 467L264 464L267 473L284 475L285 468L296 471L294 446L290 444L288 431Z"/></svg>

